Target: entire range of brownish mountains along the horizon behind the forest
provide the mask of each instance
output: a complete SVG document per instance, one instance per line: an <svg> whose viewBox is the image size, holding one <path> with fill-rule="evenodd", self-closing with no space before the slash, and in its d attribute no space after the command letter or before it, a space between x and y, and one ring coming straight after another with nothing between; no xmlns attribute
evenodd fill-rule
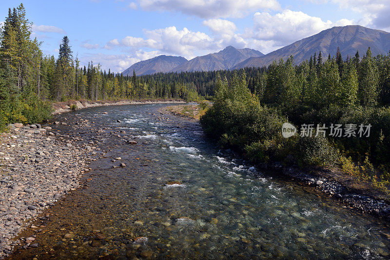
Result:
<svg viewBox="0 0 390 260"><path fill-rule="evenodd" d="M318 55L321 51L324 59L329 54L333 56L337 48L340 48L343 58L354 56L356 50L359 51L360 57L363 57L368 47L374 56L387 54L390 51L390 33L360 25L336 26L298 40L267 55L249 48L236 49L228 46L217 53L198 56L191 60L178 56L157 56L133 64L123 71L123 74L132 74L133 69L137 75L145 75L157 72L216 71L261 67L271 64L273 60L280 58L285 60L290 55L294 56L295 63L299 64L305 59L310 59L314 52Z"/></svg>

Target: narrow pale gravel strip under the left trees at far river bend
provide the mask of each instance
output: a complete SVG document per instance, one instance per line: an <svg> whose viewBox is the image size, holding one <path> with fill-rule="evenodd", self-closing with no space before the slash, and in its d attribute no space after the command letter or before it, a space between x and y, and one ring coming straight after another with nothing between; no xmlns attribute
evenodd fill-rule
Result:
<svg viewBox="0 0 390 260"><path fill-rule="evenodd" d="M186 101L182 99L151 99L151 100L117 100L117 101L91 101L91 100L70 100L67 102L57 102L53 104L53 114L72 111L74 109L94 108L103 106L117 106L117 105L140 105L140 104L182 104Z"/></svg>

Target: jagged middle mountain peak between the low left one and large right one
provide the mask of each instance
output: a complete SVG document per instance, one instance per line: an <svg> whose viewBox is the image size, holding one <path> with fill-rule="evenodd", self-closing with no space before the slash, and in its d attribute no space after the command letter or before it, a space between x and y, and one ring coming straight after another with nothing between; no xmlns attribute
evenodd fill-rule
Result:
<svg viewBox="0 0 390 260"><path fill-rule="evenodd" d="M217 53L198 56L184 62L171 70L171 72L229 70L237 63L244 61L249 57L259 57L263 55L264 54L256 50L248 48L236 49L232 46L228 46Z"/></svg>

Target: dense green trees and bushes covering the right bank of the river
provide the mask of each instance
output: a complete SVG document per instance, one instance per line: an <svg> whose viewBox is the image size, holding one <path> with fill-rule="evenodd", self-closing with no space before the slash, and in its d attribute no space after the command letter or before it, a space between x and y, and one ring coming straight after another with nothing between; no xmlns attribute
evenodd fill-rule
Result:
<svg viewBox="0 0 390 260"><path fill-rule="evenodd" d="M339 50L325 59L320 52L300 64L275 60L255 76L232 73L216 74L214 105L200 119L219 145L258 163L338 165L390 192L390 52L372 56L368 48L345 59ZM284 123L298 133L284 138ZM312 135L302 134L310 124ZM335 125L356 134L332 134ZM370 134L358 134L369 125ZM317 134L315 126L328 128Z"/></svg>

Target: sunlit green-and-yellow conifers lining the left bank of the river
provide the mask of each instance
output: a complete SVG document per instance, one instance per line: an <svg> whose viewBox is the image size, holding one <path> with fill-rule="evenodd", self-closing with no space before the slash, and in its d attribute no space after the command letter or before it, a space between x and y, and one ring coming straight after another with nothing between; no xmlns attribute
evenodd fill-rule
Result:
<svg viewBox="0 0 390 260"><path fill-rule="evenodd" d="M57 58L43 55L42 42L31 39L31 33L32 22L23 4L9 8L0 32L0 127L47 119L51 101L197 98L191 84L147 82L135 73L102 71L93 61L81 67L67 36L62 38Z"/></svg>

